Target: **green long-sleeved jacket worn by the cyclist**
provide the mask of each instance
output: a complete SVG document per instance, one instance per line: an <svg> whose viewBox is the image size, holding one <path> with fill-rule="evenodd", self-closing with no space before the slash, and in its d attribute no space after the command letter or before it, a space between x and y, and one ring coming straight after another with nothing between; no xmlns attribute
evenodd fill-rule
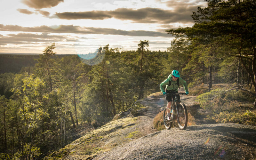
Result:
<svg viewBox="0 0 256 160"><path fill-rule="evenodd" d="M168 84L169 84L169 81L171 81L171 85L168 87ZM182 78L179 77L179 84L180 85L183 85L184 88L185 88L185 92L188 92L188 84L186 81L184 81ZM160 84L160 89L161 89L161 92L164 92L165 91L165 88L171 92L176 92L178 91L178 84L177 84L177 81L172 81L172 74L170 74L168 76L168 78L166 80L164 80L164 82L162 82Z"/></svg>

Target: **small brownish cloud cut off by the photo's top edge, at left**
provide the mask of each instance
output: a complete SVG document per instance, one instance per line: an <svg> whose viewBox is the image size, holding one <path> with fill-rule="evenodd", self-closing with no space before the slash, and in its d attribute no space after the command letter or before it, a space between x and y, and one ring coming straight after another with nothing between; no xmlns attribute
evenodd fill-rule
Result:
<svg viewBox="0 0 256 160"><path fill-rule="evenodd" d="M64 0L22 0L21 2L30 8L41 9L54 7Z"/></svg>

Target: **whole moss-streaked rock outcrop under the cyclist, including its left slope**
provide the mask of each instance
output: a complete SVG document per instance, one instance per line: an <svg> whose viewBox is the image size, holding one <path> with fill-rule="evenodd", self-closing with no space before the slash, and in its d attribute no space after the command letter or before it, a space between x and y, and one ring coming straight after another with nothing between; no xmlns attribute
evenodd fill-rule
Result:
<svg viewBox="0 0 256 160"><path fill-rule="evenodd" d="M199 110L196 96L181 101ZM158 92L138 100L105 124L44 159L255 159L256 126L204 124L157 132L153 119L167 102Z"/></svg>

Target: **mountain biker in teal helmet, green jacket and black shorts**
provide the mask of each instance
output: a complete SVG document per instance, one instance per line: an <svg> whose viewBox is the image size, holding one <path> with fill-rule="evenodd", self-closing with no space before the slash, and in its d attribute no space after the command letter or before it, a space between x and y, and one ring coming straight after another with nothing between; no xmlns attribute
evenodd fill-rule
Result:
<svg viewBox="0 0 256 160"><path fill-rule="evenodd" d="M161 92L163 93L163 95L165 95L165 98L168 102L167 103L167 114L168 114L167 120L168 121L172 119L172 116L170 116L172 99L173 100L175 99L174 93L178 93L178 87L179 87L178 85L179 84L184 86L185 92L188 95L188 85L187 85L186 81L184 81L182 78L180 78L180 73L177 70L173 70L172 74L170 74L168 76L168 78L160 84ZM168 95L168 94L174 94L174 95ZM178 94L176 96L178 98L177 103L179 105L180 104L180 95ZM173 113L172 113L172 115L173 115Z"/></svg>

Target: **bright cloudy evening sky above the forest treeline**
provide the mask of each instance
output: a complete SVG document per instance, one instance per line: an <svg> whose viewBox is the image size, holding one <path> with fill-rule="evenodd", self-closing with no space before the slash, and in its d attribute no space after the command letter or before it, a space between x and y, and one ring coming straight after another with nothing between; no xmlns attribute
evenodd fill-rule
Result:
<svg viewBox="0 0 256 160"><path fill-rule="evenodd" d="M43 53L55 42L60 54L87 54L100 46L165 51L165 30L191 27L204 0L1 0L0 52Z"/></svg>

